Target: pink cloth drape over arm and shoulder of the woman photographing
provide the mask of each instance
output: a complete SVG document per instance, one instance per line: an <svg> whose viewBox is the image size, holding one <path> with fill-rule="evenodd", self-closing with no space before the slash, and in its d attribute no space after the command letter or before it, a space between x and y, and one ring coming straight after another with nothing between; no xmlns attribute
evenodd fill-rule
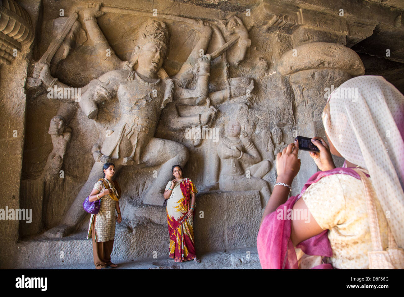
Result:
<svg viewBox="0 0 404 297"><path fill-rule="evenodd" d="M358 173L350 168L340 167L329 171L318 171L309 178L298 196L290 197L276 211L265 217L257 238L258 255L263 269L298 269L295 248L290 240L291 220L278 219L277 211L278 209L284 210L284 207L292 209L295 202L312 183L316 183L322 177L338 173L360 179ZM327 234L328 230L324 230L322 233L299 243L296 247L300 248L306 255L331 257L332 249ZM312 269L332 269L332 265L321 264Z"/></svg>

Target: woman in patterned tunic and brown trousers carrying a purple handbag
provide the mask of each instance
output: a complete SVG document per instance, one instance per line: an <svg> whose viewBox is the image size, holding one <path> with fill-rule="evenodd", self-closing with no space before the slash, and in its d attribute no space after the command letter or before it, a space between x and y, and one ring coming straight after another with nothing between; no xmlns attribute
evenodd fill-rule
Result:
<svg viewBox="0 0 404 297"><path fill-rule="evenodd" d="M101 199L100 210L97 215L91 215L87 238L93 238L93 255L96 269L109 269L118 267L111 262L111 253L114 246L115 221L122 221L119 208L120 187L113 181L115 165L105 163L104 177L100 179L91 191L88 201ZM108 188L105 187L107 185ZM115 210L118 216L115 216Z"/></svg>

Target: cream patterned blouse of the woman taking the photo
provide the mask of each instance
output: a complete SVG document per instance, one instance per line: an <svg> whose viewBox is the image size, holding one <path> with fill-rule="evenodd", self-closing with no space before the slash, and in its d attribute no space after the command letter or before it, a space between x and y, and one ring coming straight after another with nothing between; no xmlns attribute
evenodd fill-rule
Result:
<svg viewBox="0 0 404 297"><path fill-rule="evenodd" d="M372 240L362 181L348 174L329 175L310 185L302 198L318 225L330 230L332 257L327 262L338 269L368 269ZM377 199L375 205L385 249L387 220Z"/></svg>

